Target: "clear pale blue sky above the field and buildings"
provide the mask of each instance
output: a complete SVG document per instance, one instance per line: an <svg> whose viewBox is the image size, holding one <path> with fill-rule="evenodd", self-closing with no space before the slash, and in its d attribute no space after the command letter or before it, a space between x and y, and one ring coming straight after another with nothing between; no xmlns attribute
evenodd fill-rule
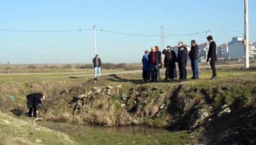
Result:
<svg viewBox="0 0 256 145"><path fill-rule="evenodd" d="M248 4L256 41L256 1ZM204 43L208 30L217 45L244 37L243 0L1 0L0 13L0 64L92 63L94 25L103 63L141 62L145 50L161 46L161 26L164 47Z"/></svg>

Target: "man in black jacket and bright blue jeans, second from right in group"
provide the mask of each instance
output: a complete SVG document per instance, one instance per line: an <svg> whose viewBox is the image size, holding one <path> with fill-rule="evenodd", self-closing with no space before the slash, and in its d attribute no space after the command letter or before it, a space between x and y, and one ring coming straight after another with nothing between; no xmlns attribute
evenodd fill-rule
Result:
<svg viewBox="0 0 256 145"><path fill-rule="evenodd" d="M189 52L189 58L191 60L191 68L193 71L193 77L191 79L199 79L199 69L198 69L198 56L199 48L198 45L195 43L195 40L191 41L191 49Z"/></svg>

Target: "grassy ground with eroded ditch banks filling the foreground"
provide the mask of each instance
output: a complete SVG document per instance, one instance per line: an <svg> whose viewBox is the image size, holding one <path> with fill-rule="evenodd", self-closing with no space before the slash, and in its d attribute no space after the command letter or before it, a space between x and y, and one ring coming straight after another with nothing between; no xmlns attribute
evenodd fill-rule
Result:
<svg viewBox="0 0 256 145"><path fill-rule="evenodd" d="M190 78L191 71L188 74ZM184 83L177 79L144 83L140 81L141 74L136 73L102 76L97 82L68 77L0 80L0 144L36 144L37 139L42 141L39 144L249 144L255 141L255 67L218 68L217 74L217 80L209 80L211 69L203 68L200 80L188 79ZM113 87L111 95L104 90L108 85ZM120 89L116 88L118 85ZM60 94L64 89L67 93ZM101 92L84 98L85 107L73 115L76 97L97 89ZM34 92L47 94L40 114L43 122L35 123L34 118L25 116L25 96ZM120 94L127 99L120 99ZM70 106L72 100L75 101ZM218 116L223 105L231 113ZM208 116L200 119L198 112ZM104 133L86 124L152 126L168 128L171 132Z"/></svg>

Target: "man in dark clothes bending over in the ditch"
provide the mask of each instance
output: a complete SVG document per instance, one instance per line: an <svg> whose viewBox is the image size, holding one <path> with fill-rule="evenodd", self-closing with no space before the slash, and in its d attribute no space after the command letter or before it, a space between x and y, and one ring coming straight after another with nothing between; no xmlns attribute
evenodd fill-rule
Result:
<svg viewBox="0 0 256 145"><path fill-rule="evenodd" d="M42 93L33 93L27 95L27 106L28 106L28 116L32 117L32 112L33 116L36 117L38 115L38 107L41 106L42 101L45 100L45 96Z"/></svg>

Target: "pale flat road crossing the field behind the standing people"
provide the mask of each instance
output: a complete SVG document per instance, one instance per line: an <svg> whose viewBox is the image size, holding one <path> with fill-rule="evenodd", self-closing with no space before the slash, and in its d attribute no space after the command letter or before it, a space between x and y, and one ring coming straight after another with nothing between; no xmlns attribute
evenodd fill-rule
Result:
<svg viewBox="0 0 256 145"><path fill-rule="evenodd" d="M235 64L235 65L219 65L216 66L218 67L232 67L232 66L244 66L244 64ZM202 66L199 68L211 68L209 66ZM187 69L191 69L190 67L187 67ZM165 69L162 69L162 71L165 71ZM141 70L132 70L132 71L116 71L116 72L103 72L101 73L102 76L106 75L111 75L111 74L133 74L133 73L139 73ZM0 74L0 75L45 75L45 74L77 74L77 73L83 73L83 72L57 72L57 73L30 73L30 74ZM88 72L86 72L88 73ZM92 74L87 74L87 75L72 75L72 76L59 76L59 77L35 77L35 78L19 78L19 79L11 79L11 80L22 80L22 79L51 79L51 78L67 78L67 77L73 77L73 78L79 78L79 77L93 77L93 72Z"/></svg>

